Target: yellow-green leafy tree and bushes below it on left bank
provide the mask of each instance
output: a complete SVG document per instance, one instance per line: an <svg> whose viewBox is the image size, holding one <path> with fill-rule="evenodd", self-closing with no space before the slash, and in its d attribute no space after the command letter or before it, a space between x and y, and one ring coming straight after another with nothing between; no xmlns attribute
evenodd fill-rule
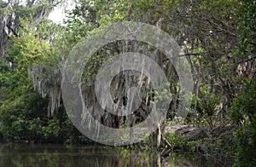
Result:
<svg viewBox="0 0 256 167"><path fill-rule="evenodd" d="M35 92L28 72L32 66L48 62L51 68L58 58L55 50L39 32L26 28L20 37L11 37L8 55L1 61L0 120L3 135L10 140L60 141L61 124L58 118L47 117L48 98ZM29 32L29 33L27 33ZM40 39L41 38L41 39ZM11 44L10 44L11 43ZM10 65L9 65L10 64Z"/></svg>

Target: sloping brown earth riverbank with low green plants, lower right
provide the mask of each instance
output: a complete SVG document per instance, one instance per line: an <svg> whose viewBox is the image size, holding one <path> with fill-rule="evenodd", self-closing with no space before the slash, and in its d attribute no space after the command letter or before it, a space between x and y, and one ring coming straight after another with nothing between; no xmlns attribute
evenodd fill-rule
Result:
<svg viewBox="0 0 256 167"><path fill-rule="evenodd" d="M215 158L224 165L233 163L235 145L233 133L236 125L202 128L195 125L166 126L163 145L163 157L173 151L197 153L204 157Z"/></svg>

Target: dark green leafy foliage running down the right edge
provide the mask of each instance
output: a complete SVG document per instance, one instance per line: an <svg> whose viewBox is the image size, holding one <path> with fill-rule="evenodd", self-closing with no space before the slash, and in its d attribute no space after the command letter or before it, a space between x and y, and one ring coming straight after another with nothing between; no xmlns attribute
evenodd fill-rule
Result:
<svg viewBox="0 0 256 167"><path fill-rule="evenodd" d="M240 43L234 49L234 55L245 62L247 59L255 61L256 44L256 1L241 1L237 12L239 18L238 32ZM249 69L250 70L250 69ZM256 165L256 78L238 78L239 90L231 105L230 118L233 123L240 124L234 133L235 164L234 166Z"/></svg>

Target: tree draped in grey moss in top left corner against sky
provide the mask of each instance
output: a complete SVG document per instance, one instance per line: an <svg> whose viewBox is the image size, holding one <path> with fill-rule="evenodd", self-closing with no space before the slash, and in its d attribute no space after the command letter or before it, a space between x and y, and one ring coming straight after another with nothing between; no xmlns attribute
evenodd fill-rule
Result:
<svg viewBox="0 0 256 167"><path fill-rule="evenodd" d="M37 24L57 5L61 0L29 0L8 2L0 1L0 57L4 58L6 46L11 34L15 37L20 36L20 22L27 20L30 24Z"/></svg>

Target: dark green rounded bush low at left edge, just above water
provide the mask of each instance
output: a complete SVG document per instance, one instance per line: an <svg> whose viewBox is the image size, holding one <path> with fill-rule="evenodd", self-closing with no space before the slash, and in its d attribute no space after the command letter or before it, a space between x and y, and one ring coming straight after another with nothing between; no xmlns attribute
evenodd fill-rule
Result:
<svg viewBox="0 0 256 167"><path fill-rule="evenodd" d="M47 118L44 112L47 101L32 93L31 89L27 90L27 94L15 97L14 101L3 101L0 107L0 119L4 124L2 132L9 139L33 141L55 135L50 129L52 124L47 123L52 123L54 119ZM47 126L48 131L45 129Z"/></svg>

